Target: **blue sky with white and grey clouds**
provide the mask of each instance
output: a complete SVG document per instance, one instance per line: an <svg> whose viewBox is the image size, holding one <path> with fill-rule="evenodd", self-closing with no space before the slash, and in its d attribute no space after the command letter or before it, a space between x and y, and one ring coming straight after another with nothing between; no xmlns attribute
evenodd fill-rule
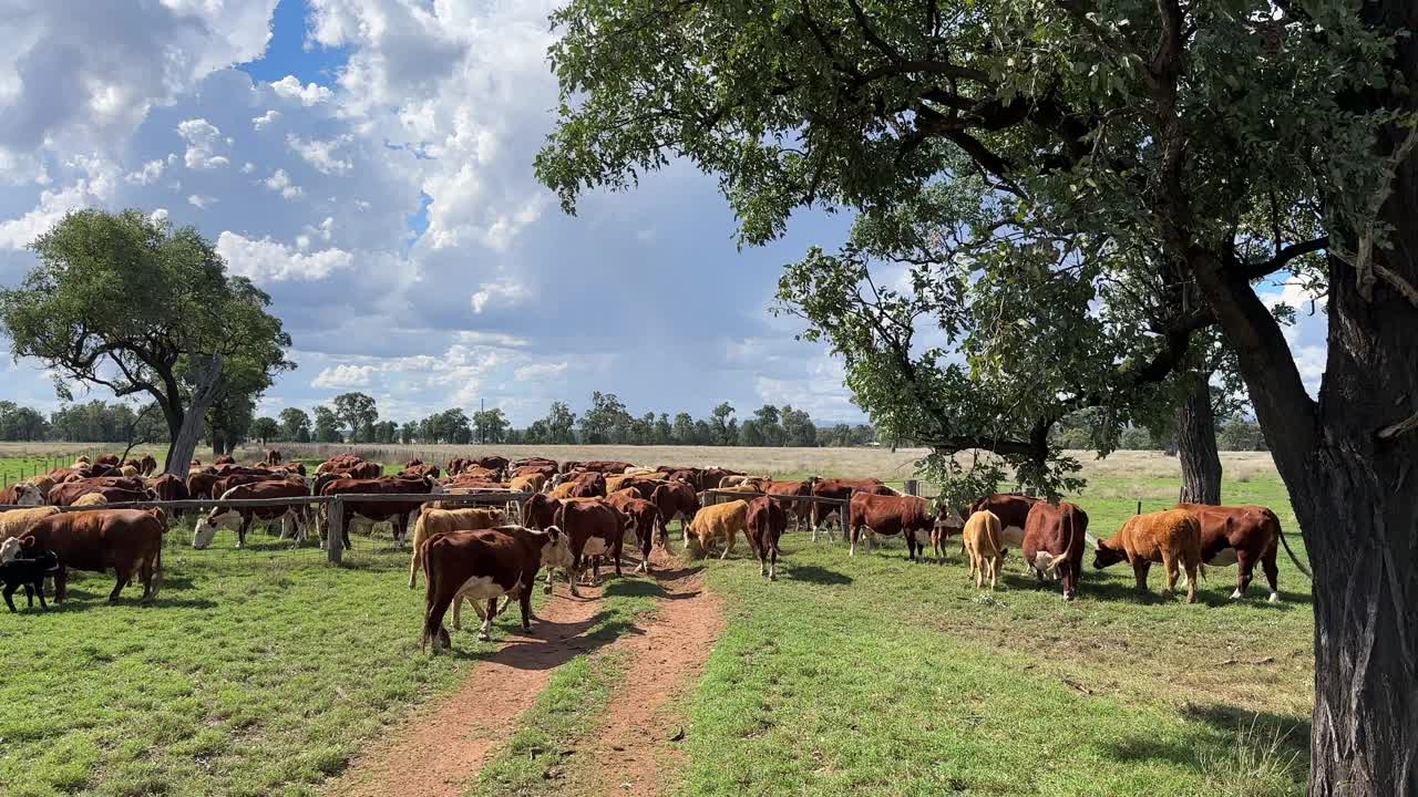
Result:
<svg viewBox="0 0 1418 797"><path fill-rule="evenodd" d="M554 6L0 0L0 284L65 211L140 207L272 295L299 369L262 413L363 390L387 418L484 400L523 425L608 390L637 414L861 420L839 364L766 312L778 267L845 218L739 251L688 166L574 218L535 182ZM1323 330L1295 345L1316 383ZM57 406L34 363L0 369L0 396Z"/></svg>

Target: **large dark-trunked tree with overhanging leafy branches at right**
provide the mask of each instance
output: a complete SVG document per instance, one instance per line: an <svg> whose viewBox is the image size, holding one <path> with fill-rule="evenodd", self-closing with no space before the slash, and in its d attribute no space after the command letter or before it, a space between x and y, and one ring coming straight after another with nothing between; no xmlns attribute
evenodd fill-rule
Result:
<svg viewBox="0 0 1418 797"><path fill-rule="evenodd" d="M1215 328L1314 559L1310 793L1418 793L1418 4L571 0L553 24L536 167L569 211L672 157L719 177L747 244L808 206L959 197L934 230L973 260L856 291L934 338L807 312L889 438L1066 489L1048 408L1151 411ZM790 288L849 298L871 258L841 254ZM1329 299L1317 400L1256 286L1278 272ZM1012 323L977 322L988 298Z"/></svg>

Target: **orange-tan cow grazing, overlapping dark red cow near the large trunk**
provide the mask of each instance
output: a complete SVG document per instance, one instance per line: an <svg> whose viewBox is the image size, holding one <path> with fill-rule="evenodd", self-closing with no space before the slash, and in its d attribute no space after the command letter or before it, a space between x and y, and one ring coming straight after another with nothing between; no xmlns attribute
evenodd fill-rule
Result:
<svg viewBox="0 0 1418 797"><path fill-rule="evenodd" d="M1177 586L1178 564L1187 570L1187 603L1197 603L1197 572L1201 567L1201 520L1185 509L1133 515L1117 533L1098 540L1093 567L1129 562L1137 577L1137 591L1147 591L1147 570L1153 562L1167 569L1167 594Z"/></svg>

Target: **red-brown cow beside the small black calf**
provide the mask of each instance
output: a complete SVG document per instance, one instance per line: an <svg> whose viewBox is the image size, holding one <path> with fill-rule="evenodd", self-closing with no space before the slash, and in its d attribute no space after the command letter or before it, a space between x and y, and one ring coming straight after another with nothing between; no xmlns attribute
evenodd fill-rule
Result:
<svg viewBox="0 0 1418 797"><path fill-rule="evenodd" d="M118 600L135 576L143 584L143 601L157 597L163 569L163 530L167 523L160 509L101 509L98 512L62 512L41 518L30 533L40 549L60 557L54 576L54 600L68 596L68 570L102 573L113 569L118 581L108 600Z"/></svg>

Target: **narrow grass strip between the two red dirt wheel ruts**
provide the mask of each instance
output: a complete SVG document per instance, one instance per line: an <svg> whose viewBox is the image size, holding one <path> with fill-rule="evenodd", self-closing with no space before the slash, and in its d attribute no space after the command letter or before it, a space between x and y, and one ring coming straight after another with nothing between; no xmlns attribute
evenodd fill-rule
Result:
<svg viewBox="0 0 1418 797"><path fill-rule="evenodd" d="M608 642L628 630L635 618L664 594L648 580L607 581L604 608L587 640ZM625 674L625 655L581 654L557 668L546 691L522 716L516 733L498 756L482 767L468 788L469 797L532 797L560 791L574 743L591 729L610 705Z"/></svg>

